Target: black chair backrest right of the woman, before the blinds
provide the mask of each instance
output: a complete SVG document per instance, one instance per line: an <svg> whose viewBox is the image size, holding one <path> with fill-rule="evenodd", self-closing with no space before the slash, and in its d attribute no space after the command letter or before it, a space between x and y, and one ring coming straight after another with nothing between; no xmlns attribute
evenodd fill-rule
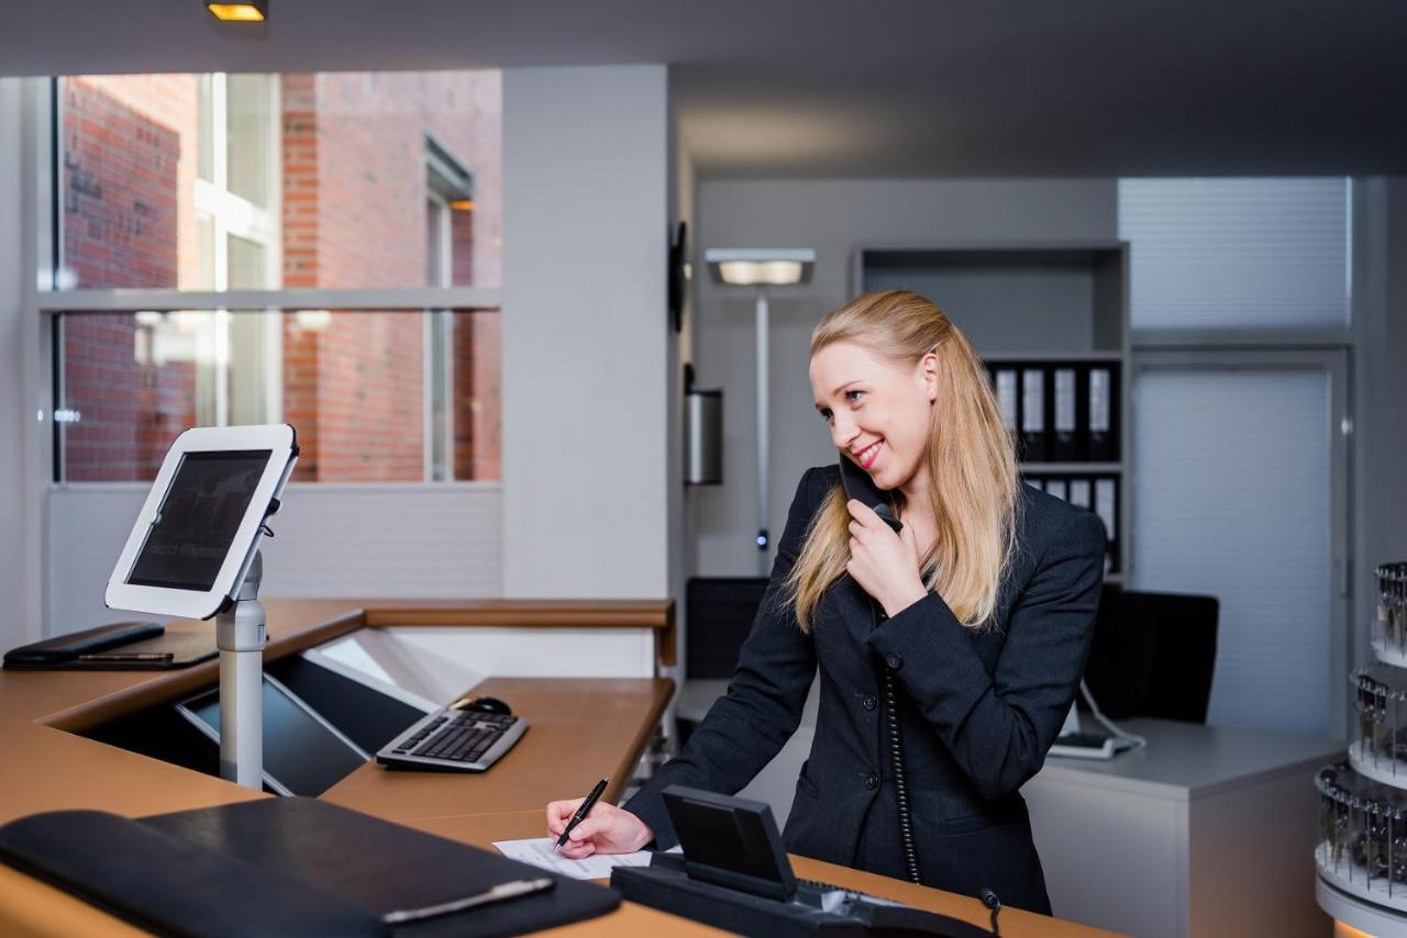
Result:
<svg viewBox="0 0 1407 938"><path fill-rule="evenodd" d="M1207 721L1217 657L1216 596L1106 586L1085 678L1113 720Z"/></svg>

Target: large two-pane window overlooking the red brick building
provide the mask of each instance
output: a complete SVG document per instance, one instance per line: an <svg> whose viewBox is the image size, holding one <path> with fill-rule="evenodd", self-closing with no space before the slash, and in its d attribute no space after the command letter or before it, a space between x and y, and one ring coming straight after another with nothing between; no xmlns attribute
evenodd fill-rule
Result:
<svg viewBox="0 0 1407 938"><path fill-rule="evenodd" d="M497 72L56 89L58 480L274 420L295 480L498 478Z"/></svg>

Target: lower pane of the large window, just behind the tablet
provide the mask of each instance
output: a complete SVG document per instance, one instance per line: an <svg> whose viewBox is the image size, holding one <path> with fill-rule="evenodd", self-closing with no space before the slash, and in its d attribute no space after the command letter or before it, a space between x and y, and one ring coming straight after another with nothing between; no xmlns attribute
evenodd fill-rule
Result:
<svg viewBox="0 0 1407 938"><path fill-rule="evenodd" d="M454 374L438 397L450 480L499 478L498 314L495 311L65 312L58 333L83 357L66 363L66 419L56 439L70 482L149 481L189 426L235 423L280 404L303 449L295 480L425 481L426 323L443 330ZM279 336L283 367L260 371L225 336ZM270 392L272 391L272 392ZM227 419L221 419L225 415ZM234 415L236 419L229 419Z"/></svg>

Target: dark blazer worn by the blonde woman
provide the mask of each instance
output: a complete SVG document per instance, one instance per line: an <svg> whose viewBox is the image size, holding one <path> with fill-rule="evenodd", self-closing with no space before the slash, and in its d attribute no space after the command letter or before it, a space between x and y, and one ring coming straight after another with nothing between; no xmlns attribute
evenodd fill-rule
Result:
<svg viewBox="0 0 1407 938"><path fill-rule="evenodd" d="M888 662L923 880L968 896L989 886L1003 904L1048 914L1017 790L1040 771L1085 669L1103 525L1021 485L1019 550L988 626L965 629L936 593L884 620L858 584L841 577L806 634L781 602L781 584L837 485L834 465L802 477L727 695L626 809L654 830L657 847L674 845L664 786L734 793L747 785L796 730L819 664L816 738L796 779L787 848L903 878L881 700Z"/></svg>

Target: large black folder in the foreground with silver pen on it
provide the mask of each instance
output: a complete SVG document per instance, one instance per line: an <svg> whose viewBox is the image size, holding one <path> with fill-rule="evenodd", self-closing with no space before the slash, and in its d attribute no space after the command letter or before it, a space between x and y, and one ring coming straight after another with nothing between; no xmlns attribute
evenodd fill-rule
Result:
<svg viewBox="0 0 1407 938"><path fill-rule="evenodd" d="M34 814L0 827L0 861L160 935L515 935L620 903L591 883L303 797L141 820ZM381 921L545 876L556 880L546 892Z"/></svg>

